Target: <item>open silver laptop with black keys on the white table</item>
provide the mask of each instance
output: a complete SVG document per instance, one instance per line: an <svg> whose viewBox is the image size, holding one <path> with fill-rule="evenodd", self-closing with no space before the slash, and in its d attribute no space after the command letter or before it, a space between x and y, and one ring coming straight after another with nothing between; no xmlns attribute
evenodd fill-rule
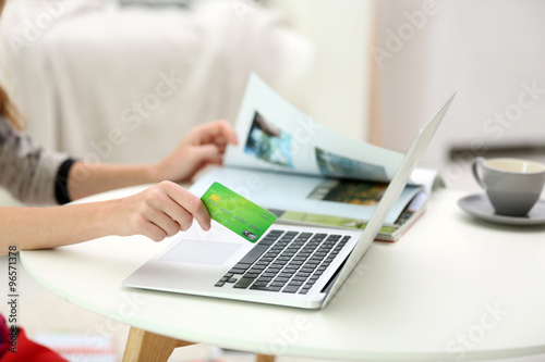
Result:
<svg viewBox="0 0 545 362"><path fill-rule="evenodd" d="M205 233L194 223L123 285L304 309L325 307L370 248L455 93L420 129L364 230L274 224L254 245L226 228Z"/></svg>

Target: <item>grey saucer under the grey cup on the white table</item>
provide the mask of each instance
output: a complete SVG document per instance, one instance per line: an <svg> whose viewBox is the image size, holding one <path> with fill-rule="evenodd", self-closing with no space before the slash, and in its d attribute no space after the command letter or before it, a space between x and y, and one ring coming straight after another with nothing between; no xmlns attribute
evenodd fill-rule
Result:
<svg viewBox="0 0 545 362"><path fill-rule="evenodd" d="M469 214L499 224L540 225L545 224L545 200L537 200L525 216L498 215L484 194L470 195L458 200L458 205Z"/></svg>

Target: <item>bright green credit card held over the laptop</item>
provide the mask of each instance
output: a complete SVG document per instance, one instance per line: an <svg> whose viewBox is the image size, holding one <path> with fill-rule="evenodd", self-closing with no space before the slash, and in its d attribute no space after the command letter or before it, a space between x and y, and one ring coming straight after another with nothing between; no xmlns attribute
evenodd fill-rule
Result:
<svg viewBox="0 0 545 362"><path fill-rule="evenodd" d="M219 183L214 183L201 200L213 220L251 242L256 242L276 220L275 214Z"/></svg>

